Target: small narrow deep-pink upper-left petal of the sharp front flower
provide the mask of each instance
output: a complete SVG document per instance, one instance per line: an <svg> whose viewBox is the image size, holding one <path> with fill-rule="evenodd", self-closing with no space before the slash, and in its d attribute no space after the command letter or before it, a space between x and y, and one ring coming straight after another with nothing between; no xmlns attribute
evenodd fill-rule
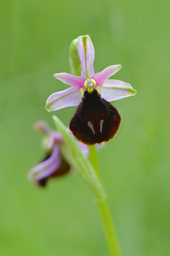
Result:
<svg viewBox="0 0 170 256"><path fill-rule="evenodd" d="M73 86L77 90L80 90L86 81L86 79L81 76L73 76L67 73L56 73L54 74L54 77L65 84Z"/></svg>

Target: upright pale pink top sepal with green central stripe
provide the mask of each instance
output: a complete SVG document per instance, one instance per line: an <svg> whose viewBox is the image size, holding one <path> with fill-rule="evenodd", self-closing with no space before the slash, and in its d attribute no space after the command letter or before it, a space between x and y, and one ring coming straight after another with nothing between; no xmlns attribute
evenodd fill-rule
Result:
<svg viewBox="0 0 170 256"><path fill-rule="evenodd" d="M88 36L78 38L78 53L81 61L81 76L91 78L94 74L95 49Z"/></svg>

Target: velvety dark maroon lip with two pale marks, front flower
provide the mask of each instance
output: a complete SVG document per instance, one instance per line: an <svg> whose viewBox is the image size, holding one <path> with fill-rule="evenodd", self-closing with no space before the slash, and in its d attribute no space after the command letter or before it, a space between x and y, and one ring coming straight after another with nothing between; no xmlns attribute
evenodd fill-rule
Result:
<svg viewBox="0 0 170 256"><path fill-rule="evenodd" d="M108 142L118 132L121 116L115 107L102 99L96 90L84 92L84 98L70 121L74 137L88 145Z"/></svg>

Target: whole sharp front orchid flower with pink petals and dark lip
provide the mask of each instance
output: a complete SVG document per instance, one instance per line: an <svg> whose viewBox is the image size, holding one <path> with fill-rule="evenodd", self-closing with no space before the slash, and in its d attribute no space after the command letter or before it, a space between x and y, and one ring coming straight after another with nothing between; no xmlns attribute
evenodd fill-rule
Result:
<svg viewBox="0 0 170 256"><path fill-rule="evenodd" d="M95 74L95 50L89 36L78 37L77 51L81 76L54 74L55 78L71 87L50 95L46 109L53 111L78 106L69 128L78 141L94 146L112 140L122 121L117 109L108 101L129 97L136 91L128 83L108 79L121 69L121 65L109 66Z"/></svg>

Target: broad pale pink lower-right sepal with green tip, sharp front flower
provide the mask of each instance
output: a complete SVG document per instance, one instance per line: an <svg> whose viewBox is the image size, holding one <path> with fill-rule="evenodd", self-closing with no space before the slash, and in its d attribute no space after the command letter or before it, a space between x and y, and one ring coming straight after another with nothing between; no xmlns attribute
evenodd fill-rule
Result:
<svg viewBox="0 0 170 256"><path fill-rule="evenodd" d="M136 91L128 83L108 79L101 87L101 98L112 101L135 95Z"/></svg>

